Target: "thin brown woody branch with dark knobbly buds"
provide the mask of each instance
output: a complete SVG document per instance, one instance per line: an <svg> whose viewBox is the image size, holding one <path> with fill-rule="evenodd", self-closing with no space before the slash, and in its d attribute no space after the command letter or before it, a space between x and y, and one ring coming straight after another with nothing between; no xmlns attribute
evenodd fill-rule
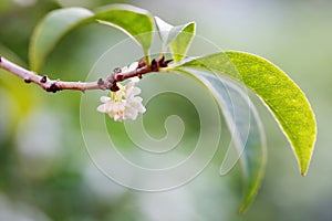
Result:
<svg viewBox="0 0 332 221"><path fill-rule="evenodd" d="M38 75L32 71L28 71L0 55L0 67L9 71L10 73L21 77L25 83L34 83L40 85L46 92L59 92L62 90L73 90L85 92L86 90L111 90L116 92L118 90L116 83L125 81L127 78L138 76L151 72L158 72L159 67L166 67L172 60L165 61L165 57L160 57L157 61L153 60L151 65L146 65L144 61L139 61L138 66L129 72L122 73L117 67L113 73L104 81L100 78L95 82L63 82L60 80L50 80L46 75Z"/></svg>

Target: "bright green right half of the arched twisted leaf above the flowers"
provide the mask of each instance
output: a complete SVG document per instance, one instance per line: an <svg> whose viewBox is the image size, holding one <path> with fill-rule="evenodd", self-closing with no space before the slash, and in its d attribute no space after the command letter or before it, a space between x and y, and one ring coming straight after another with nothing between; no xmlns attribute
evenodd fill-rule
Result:
<svg viewBox="0 0 332 221"><path fill-rule="evenodd" d="M94 18L101 23L116 27L133 36L142 45L145 56L148 56L154 22L146 10L128 4L111 4L98 9Z"/></svg>

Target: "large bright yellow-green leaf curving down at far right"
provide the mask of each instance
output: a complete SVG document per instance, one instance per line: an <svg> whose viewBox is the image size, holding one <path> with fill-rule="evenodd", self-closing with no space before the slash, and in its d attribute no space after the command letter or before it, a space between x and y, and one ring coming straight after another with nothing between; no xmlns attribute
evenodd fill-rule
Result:
<svg viewBox="0 0 332 221"><path fill-rule="evenodd" d="M239 74L230 69L229 60ZM301 175L307 173L315 143L317 124L305 95L284 72L262 57L232 51L191 59L178 66L216 71L252 90L270 108L290 141Z"/></svg>

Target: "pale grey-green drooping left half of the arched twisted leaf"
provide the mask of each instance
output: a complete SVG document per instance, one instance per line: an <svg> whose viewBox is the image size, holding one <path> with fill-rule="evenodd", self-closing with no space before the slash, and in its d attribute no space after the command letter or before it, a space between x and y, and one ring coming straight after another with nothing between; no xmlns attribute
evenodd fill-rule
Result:
<svg viewBox="0 0 332 221"><path fill-rule="evenodd" d="M52 51L58 41L93 13L83 8L66 8L50 12L34 29L29 59L32 71L39 71L45 56Z"/></svg>

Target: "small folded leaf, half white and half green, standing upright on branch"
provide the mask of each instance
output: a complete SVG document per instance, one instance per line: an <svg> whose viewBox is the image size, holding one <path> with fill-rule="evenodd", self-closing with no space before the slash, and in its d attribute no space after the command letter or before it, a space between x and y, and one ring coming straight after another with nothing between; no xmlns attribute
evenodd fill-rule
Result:
<svg viewBox="0 0 332 221"><path fill-rule="evenodd" d="M157 29L164 48L170 46L173 59L175 62L181 61L190 46L195 35L195 22L189 22L183 25L173 27L155 17Z"/></svg>

